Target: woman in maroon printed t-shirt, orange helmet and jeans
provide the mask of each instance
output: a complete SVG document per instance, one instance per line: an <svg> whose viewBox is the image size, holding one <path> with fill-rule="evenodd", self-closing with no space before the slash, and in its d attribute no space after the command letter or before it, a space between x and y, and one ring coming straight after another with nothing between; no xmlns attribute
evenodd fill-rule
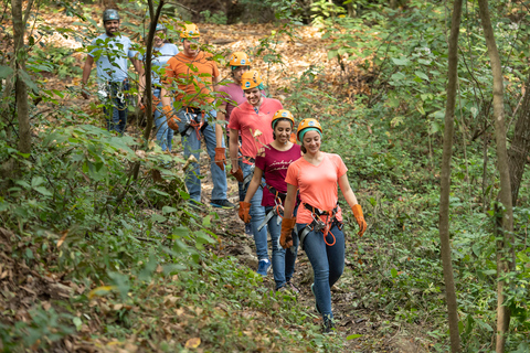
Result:
<svg viewBox="0 0 530 353"><path fill-rule="evenodd" d="M241 203L240 218L245 223L251 222L248 215L250 202L257 189L263 188L262 206L265 206L266 217L261 227L266 224L272 237L273 274L276 290L288 288L298 292L298 289L290 281L295 272L298 237L293 237L296 240L293 247L287 250L279 245L283 204L287 193L285 176L289 164L301 157L300 147L289 140L294 125L295 119L289 110L280 109L274 115L272 120L274 140L257 152L254 175L248 185L245 201ZM265 178L265 185L262 185L263 178Z"/></svg>

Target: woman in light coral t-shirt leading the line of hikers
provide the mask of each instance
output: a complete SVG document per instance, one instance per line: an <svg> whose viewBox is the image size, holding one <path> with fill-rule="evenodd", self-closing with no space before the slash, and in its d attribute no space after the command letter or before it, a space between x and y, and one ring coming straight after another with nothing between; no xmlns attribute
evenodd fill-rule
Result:
<svg viewBox="0 0 530 353"><path fill-rule="evenodd" d="M320 124L316 119L301 120L297 137L304 157L289 165L285 178L287 196L279 243L284 248L293 246L292 232L296 225L300 246L315 274L311 291L316 308L324 319L324 332L328 333L335 329L330 289L344 269L344 234L337 185L359 224L359 236L367 229L367 222L348 182L344 162L340 156L320 150ZM301 204L293 218L298 191Z"/></svg>

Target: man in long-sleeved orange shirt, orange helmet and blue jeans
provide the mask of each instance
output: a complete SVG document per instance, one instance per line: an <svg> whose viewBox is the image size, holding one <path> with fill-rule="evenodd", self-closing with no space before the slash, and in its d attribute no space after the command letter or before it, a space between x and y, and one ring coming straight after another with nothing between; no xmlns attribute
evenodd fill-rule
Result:
<svg viewBox="0 0 530 353"><path fill-rule="evenodd" d="M212 172L213 190L211 205L214 207L233 208L235 205L226 200L226 174L224 169L215 164L215 117L213 95L219 82L220 72L212 55L202 52L197 40L200 33L195 24L184 24L180 33L183 51L171 57L166 67L166 87L160 96L162 110L168 117L168 126L180 132L184 158L193 154L199 161L201 150L201 133L204 137L210 170ZM170 84L177 87L169 87ZM171 105L173 89L174 101ZM174 109L174 110L173 110ZM177 111L177 115L173 114ZM224 147L224 145L223 145ZM186 186L191 199L201 202L201 181L199 163L192 163L186 172Z"/></svg>

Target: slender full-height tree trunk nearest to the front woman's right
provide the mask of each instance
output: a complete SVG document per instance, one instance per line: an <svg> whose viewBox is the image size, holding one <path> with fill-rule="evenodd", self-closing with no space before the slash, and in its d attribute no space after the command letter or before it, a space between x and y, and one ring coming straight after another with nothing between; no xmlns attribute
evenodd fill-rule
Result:
<svg viewBox="0 0 530 353"><path fill-rule="evenodd" d="M449 242L449 191L451 191L451 158L453 154L453 135L455 120L456 93L458 84L458 33L460 29L462 0L455 0L451 24L448 68L447 68L447 105L445 108L444 152L442 158L439 190L439 244L444 266L445 296L449 320L451 351L460 352L460 335L458 332L458 312L456 302L453 264Z"/></svg>

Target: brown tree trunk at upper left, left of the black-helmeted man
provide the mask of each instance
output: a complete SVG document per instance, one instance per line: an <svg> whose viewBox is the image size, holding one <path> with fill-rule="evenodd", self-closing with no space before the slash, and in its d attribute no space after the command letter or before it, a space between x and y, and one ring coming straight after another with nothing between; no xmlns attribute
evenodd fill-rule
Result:
<svg viewBox="0 0 530 353"><path fill-rule="evenodd" d="M28 6L31 6L30 3ZM15 99L17 99L17 119L19 121L19 151L22 153L31 152L31 130L30 114L28 104L28 87L22 79L21 72L25 71L24 51L24 21L22 19L22 0L12 0L11 9L13 15L13 40L15 55Z"/></svg>

